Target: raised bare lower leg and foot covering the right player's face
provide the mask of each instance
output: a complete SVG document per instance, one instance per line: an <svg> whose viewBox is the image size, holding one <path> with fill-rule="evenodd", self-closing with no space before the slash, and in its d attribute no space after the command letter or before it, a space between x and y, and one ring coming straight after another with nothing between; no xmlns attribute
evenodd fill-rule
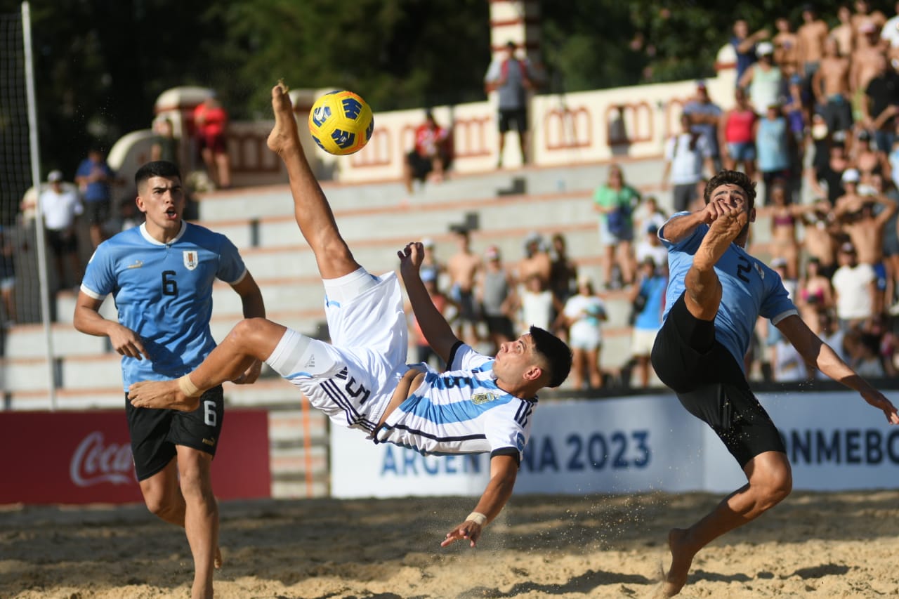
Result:
<svg viewBox="0 0 899 599"><path fill-rule="evenodd" d="M686 293L684 303L690 314L700 320L714 320L721 303L721 282L715 273L715 264L740 235L749 216L744 210L721 214L708 228L702 239L693 265L684 277Z"/></svg>

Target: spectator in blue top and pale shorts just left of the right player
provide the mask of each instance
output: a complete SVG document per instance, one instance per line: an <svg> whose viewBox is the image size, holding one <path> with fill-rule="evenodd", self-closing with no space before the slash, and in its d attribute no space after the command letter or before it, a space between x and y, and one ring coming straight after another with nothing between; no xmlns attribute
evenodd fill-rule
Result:
<svg viewBox="0 0 899 599"><path fill-rule="evenodd" d="M656 239L658 239L656 235ZM668 250L663 246L665 254ZM640 261L640 275L637 284L630 292L633 310L630 353L636 362L637 377L640 387L649 387L649 374L652 364L649 355L653 351L655 335L662 328L662 312L664 308L665 287L668 285L668 256L656 261L651 255Z"/></svg>

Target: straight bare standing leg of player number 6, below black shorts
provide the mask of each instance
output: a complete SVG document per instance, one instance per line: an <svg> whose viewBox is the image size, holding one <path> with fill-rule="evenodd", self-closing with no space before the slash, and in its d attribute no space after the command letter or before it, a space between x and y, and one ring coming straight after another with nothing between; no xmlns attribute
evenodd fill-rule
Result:
<svg viewBox="0 0 899 599"><path fill-rule="evenodd" d="M212 456L183 445L178 445L177 451L186 506L184 531L194 565L191 599L206 599L212 596L212 573L218 554L218 502L209 474Z"/></svg>

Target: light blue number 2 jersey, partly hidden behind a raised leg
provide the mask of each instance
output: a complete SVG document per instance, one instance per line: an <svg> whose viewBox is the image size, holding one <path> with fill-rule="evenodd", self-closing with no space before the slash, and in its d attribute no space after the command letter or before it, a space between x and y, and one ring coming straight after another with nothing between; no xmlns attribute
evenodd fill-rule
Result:
<svg viewBox="0 0 899 599"><path fill-rule="evenodd" d="M686 214L690 212L678 212L672 219ZM701 224L689 236L672 243L664 238L667 225L666 222L659 229L659 239L668 248L668 269L671 273L665 295L664 318L668 317L674 302L681 297L685 289L684 278L693 265L693 255L708 232L708 225ZM749 350L752 329L758 317L770 318L776 325L798 312L780 281L780 275L736 244L731 244L715 264L715 273L721 282L721 305L715 317L715 338L743 368L743 356Z"/></svg>

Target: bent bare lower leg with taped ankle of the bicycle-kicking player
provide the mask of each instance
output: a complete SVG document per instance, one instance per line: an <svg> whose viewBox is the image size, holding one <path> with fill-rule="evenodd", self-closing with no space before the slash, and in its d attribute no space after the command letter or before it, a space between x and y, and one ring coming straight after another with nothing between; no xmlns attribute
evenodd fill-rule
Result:
<svg viewBox="0 0 899 599"><path fill-rule="evenodd" d="M128 391L131 405L191 412L200 406L203 391L237 379L254 360L268 358L286 330L265 318L245 318L187 375L186 382L182 377L133 383Z"/></svg>

